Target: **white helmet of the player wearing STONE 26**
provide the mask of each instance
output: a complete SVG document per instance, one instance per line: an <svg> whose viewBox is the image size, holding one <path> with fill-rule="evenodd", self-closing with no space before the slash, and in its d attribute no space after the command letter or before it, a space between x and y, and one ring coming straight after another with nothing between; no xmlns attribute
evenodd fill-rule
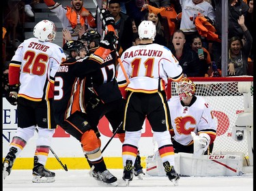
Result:
<svg viewBox="0 0 256 191"><path fill-rule="evenodd" d="M56 26L50 20L42 20L38 22L38 24L35 24L35 27L33 27L33 35L40 41L54 40L56 32ZM49 39L48 35L53 35L53 37Z"/></svg>

